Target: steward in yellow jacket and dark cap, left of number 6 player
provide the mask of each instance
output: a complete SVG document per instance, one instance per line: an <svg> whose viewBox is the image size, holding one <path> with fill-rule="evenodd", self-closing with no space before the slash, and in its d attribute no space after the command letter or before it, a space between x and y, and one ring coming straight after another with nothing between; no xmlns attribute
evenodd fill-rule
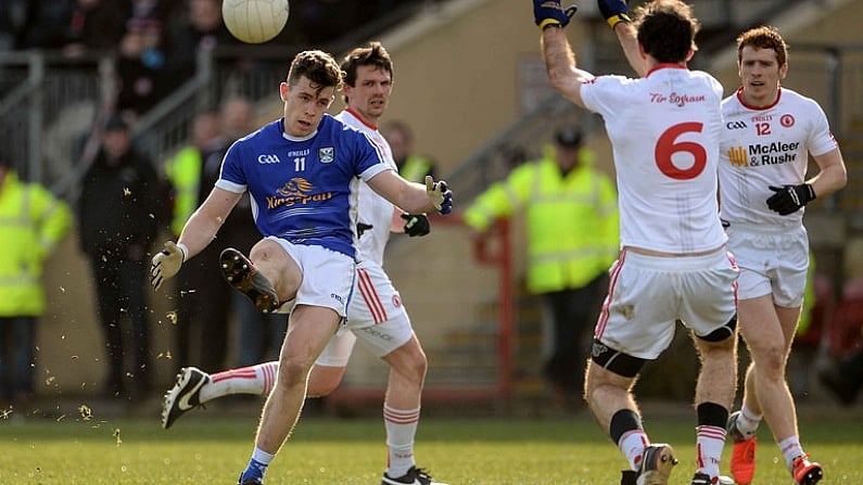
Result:
<svg viewBox="0 0 863 485"><path fill-rule="evenodd" d="M572 407L582 405L591 330L619 245L617 191L593 158L581 131L566 127L543 158L492 184L464 215L482 232L497 218L523 213L526 288L543 299L543 374Z"/></svg>

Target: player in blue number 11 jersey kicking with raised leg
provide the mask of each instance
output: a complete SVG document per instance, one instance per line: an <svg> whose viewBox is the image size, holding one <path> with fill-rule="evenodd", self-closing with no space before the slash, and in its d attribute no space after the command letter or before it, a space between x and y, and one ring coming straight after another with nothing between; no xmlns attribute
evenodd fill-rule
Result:
<svg viewBox="0 0 863 485"><path fill-rule="evenodd" d="M342 76L330 54L299 53L279 86L284 116L231 145L216 187L187 221L179 241L166 243L153 257L152 283L158 289L213 240L249 191L264 239L250 258L225 250L223 272L263 311L283 302L293 302L293 308L279 372L241 485L263 483L269 462L296 424L315 359L345 316L355 276L359 180L411 213L452 210L452 192L444 182L408 182L386 165L367 136L326 114Z"/></svg>

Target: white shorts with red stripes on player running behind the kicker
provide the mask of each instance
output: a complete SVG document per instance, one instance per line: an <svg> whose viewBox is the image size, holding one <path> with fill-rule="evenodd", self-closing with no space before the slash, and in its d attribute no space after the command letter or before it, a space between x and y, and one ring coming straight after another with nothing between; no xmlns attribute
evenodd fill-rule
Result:
<svg viewBox="0 0 863 485"><path fill-rule="evenodd" d="M356 273L346 323L318 357L319 366L347 366L357 339L376 357L384 357L414 335L402 297L383 268L364 261Z"/></svg>

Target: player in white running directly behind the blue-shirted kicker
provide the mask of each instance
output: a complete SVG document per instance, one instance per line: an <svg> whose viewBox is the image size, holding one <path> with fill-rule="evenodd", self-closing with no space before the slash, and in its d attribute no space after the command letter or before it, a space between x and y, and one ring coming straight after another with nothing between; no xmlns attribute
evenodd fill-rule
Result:
<svg viewBox="0 0 863 485"><path fill-rule="evenodd" d="M381 149L386 165L395 170L390 144L378 131L378 120L386 111L393 88L390 54L380 42L370 42L352 50L341 67L345 73L347 107L335 119L368 136ZM390 233L426 235L430 231L429 219L424 214L403 213L367 183L360 183L356 227L359 263L346 324L330 340L312 368L307 395L326 396L338 387L359 339L391 367L383 404L389 454L382 485L415 483L415 480L422 485L433 484L435 482L414 461L414 439L428 362L402 297L383 270L383 252ZM162 425L168 427L186 411L223 396L266 396L272 388L278 368L278 361L214 374L185 368L177 384L165 395Z"/></svg>

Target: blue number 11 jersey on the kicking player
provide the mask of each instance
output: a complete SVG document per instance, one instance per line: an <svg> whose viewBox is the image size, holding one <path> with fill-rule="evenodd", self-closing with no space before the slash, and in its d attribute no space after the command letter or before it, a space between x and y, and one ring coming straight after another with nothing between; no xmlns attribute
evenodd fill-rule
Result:
<svg viewBox="0 0 863 485"><path fill-rule="evenodd" d="M354 225L359 179L390 168L366 135L325 114L317 131L289 137L283 119L234 142L216 187L249 191L264 237L327 247L356 258ZM359 178L357 178L359 177Z"/></svg>

